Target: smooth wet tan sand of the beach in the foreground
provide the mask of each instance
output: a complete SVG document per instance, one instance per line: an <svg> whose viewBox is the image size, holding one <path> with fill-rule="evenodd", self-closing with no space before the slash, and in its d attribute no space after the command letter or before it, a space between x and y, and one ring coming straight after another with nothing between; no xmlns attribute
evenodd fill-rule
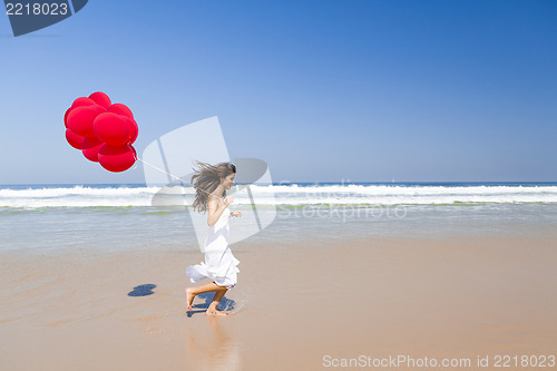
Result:
<svg viewBox="0 0 557 371"><path fill-rule="evenodd" d="M492 368L498 354L557 353L553 238L232 247L242 263L227 318L204 315L206 295L186 310L184 271L199 252L2 253L1 369L315 370L405 355L486 370L478 355Z"/></svg>

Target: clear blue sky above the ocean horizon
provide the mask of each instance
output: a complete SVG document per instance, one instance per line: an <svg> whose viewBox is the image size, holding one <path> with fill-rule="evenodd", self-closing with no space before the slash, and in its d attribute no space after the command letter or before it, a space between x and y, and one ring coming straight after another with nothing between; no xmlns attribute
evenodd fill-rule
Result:
<svg viewBox="0 0 557 371"><path fill-rule="evenodd" d="M100 1L14 38L0 14L0 184L143 183L63 113L101 90L135 147L218 116L275 182L557 180L555 1Z"/></svg>

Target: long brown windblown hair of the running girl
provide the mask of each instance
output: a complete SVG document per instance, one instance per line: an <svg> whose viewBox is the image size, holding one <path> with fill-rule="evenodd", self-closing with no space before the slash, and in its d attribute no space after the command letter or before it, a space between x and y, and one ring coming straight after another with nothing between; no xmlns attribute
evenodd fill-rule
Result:
<svg viewBox="0 0 557 371"><path fill-rule="evenodd" d="M236 174L236 166L232 163L219 163L211 165L195 160L197 169L192 176L192 184L195 188L194 209L201 212L207 211L207 198L213 191L221 184L221 178L225 178L231 174ZM195 183L194 183L195 182ZM223 197L226 196L226 191Z"/></svg>

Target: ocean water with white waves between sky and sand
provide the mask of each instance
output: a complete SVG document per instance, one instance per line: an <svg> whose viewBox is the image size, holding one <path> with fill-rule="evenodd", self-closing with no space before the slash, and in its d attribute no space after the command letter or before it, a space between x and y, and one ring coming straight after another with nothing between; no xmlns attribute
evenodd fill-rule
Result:
<svg viewBox="0 0 557 371"><path fill-rule="evenodd" d="M193 188L0 185L0 251L195 251ZM365 237L557 237L557 183L281 183L243 187L232 209L273 221L234 243ZM232 189L234 191L234 189ZM231 194L231 192L228 192ZM261 215L263 215L261 214ZM268 219L267 217L267 219ZM247 218L233 219L231 233Z"/></svg>

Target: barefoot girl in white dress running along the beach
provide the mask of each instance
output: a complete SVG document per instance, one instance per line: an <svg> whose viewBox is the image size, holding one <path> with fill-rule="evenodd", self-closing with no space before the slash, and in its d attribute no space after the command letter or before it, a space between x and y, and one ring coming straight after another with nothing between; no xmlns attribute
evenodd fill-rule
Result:
<svg viewBox="0 0 557 371"><path fill-rule="evenodd" d="M207 309L207 315L227 315L216 310L216 305L223 299L228 289L237 283L236 273L240 270L236 265L240 261L232 254L228 246L228 219L231 216L242 216L242 212L231 212L228 205L234 197L226 195L226 189L234 185L236 166L231 163L221 163L216 166L196 162L198 169L192 176L192 183L196 189L194 209L198 212L208 211L207 225L209 232L205 241L205 262L190 265L186 269L186 274L193 283L211 279L212 283L197 287L186 289L187 310L192 310L194 297L204 292L215 292L215 296Z"/></svg>

